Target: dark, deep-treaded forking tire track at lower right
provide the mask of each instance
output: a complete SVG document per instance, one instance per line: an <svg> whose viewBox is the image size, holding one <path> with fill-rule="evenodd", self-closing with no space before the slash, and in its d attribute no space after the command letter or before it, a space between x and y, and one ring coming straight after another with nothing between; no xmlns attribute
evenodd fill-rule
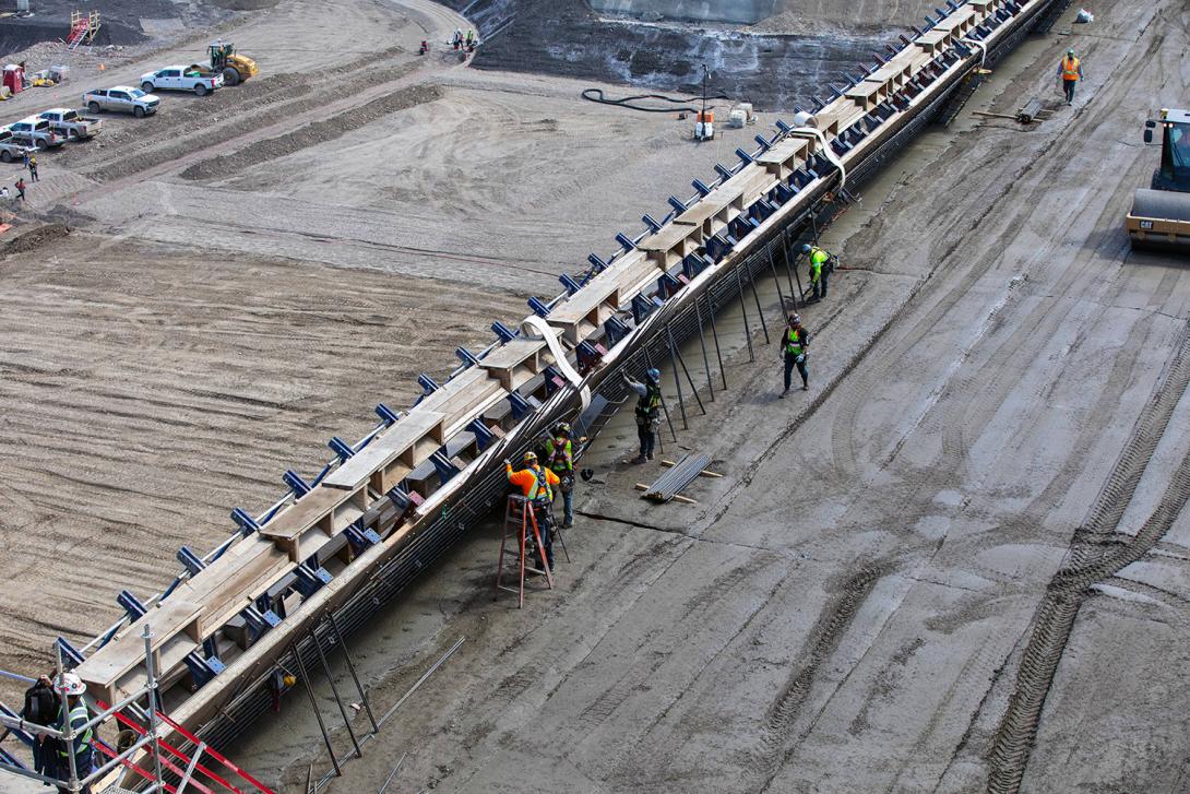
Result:
<svg viewBox="0 0 1190 794"><path fill-rule="evenodd" d="M1116 575L1140 559L1170 530L1190 499L1190 454L1178 465L1152 515L1123 544L1104 543L1115 531L1136 492L1170 417L1190 386L1190 326L1182 344L1136 423L1084 526L1076 533L1071 562L1059 570L1038 608L1016 683L989 756L988 790L1020 790L1036 738L1038 723L1075 619L1091 584Z"/></svg>

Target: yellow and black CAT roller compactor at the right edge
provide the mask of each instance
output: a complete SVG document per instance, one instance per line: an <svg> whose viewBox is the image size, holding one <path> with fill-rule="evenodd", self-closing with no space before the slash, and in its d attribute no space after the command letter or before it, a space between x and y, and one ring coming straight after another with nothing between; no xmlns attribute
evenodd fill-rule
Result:
<svg viewBox="0 0 1190 794"><path fill-rule="evenodd" d="M1190 111L1163 110L1145 121L1145 143L1161 136L1161 164L1132 200L1126 225L1134 249L1190 252Z"/></svg>

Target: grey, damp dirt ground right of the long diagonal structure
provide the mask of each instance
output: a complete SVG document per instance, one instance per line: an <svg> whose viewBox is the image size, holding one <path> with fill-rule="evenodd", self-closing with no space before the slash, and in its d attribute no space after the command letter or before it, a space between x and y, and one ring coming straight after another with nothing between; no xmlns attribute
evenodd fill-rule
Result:
<svg viewBox="0 0 1190 794"><path fill-rule="evenodd" d="M1188 17L1069 20L969 107L1050 119L964 113L829 230L808 394L778 400L774 348L749 363L724 319L729 388L665 436L726 475L697 505L635 498L658 470L625 463L621 417L557 590L494 602L489 529L355 640L384 709L465 638L331 790L399 763L390 790L1186 790L1190 276L1121 219L1155 162L1141 121L1185 95ZM1070 45L1095 64L1072 108ZM328 764L283 708L239 752L296 786Z"/></svg>

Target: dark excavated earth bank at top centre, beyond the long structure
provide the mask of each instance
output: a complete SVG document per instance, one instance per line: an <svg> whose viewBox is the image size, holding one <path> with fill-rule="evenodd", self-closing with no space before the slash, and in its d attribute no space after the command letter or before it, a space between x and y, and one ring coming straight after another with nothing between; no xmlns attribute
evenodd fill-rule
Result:
<svg viewBox="0 0 1190 794"><path fill-rule="evenodd" d="M478 29L475 67L590 79L653 92L710 93L785 111L897 40L928 2L892 4L846 23L828 10L791 13L779 0L447 0ZM821 12L821 13L819 13ZM628 92L626 92L628 93Z"/></svg>

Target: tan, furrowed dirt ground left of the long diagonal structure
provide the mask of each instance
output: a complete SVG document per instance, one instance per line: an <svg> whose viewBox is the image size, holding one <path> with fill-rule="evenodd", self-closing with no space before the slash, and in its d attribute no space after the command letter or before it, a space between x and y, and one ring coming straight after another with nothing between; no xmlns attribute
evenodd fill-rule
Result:
<svg viewBox="0 0 1190 794"><path fill-rule="evenodd" d="M416 55L459 25L425 0L287 0L224 31L259 76L105 115L0 208L18 232L74 230L0 254L0 669L102 631L120 589L157 592L180 545L211 548L234 506L263 511L287 468L312 475L332 434L408 404L419 371L447 371L753 135L699 145L690 123L583 102L577 83ZM5 113L134 83L207 37L80 56L69 83ZM31 534L69 565L24 551ZM5 701L18 692L0 681Z"/></svg>

